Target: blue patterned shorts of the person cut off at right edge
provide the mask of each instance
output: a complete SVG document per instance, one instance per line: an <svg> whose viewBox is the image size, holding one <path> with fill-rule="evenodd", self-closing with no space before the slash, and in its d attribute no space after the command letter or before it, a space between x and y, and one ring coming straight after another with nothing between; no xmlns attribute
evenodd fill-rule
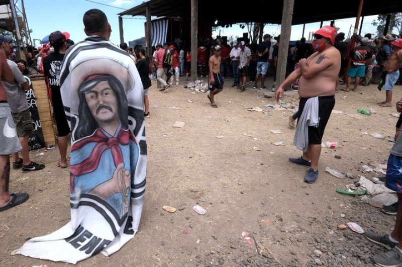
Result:
<svg viewBox="0 0 402 267"><path fill-rule="evenodd" d="M385 186L396 193L402 193L401 169L402 157L389 154L386 165Z"/></svg>

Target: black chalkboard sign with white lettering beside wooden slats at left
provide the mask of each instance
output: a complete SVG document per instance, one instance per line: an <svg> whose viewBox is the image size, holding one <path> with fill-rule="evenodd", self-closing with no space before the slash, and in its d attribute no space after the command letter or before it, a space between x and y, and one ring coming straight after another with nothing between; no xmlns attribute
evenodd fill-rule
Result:
<svg viewBox="0 0 402 267"><path fill-rule="evenodd" d="M38 106L36 105L35 93L32 87L31 79L24 76L27 79L30 89L25 92L27 101L29 104L29 112L31 113L32 125L34 127L34 133L29 136L29 150L35 150L45 147L45 139L43 138L41 120L39 118Z"/></svg>

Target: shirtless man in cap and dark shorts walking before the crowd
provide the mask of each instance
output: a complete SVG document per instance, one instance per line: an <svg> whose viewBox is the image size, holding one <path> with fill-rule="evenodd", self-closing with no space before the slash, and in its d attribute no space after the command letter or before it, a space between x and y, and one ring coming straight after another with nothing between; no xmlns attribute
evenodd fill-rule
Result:
<svg viewBox="0 0 402 267"><path fill-rule="evenodd" d="M208 90L208 99L211 102L211 107L217 108L215 103L215 95L222 92L223 89L223 77L221 75L221 47L214 47L214 55L211 56L210 65L210 86Z"/></svg>

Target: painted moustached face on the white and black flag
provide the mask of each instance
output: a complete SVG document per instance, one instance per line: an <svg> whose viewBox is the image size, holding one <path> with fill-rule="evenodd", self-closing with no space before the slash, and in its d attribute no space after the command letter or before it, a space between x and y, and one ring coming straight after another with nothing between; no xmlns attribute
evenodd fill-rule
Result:
<svg viewBox="0 0 402 267"><path fill-rule="evenodd" d="M94 88L85 92L85 99L93 118L98 124L119 120L119 105L116 94L107 81L100 82Z"/></svg>

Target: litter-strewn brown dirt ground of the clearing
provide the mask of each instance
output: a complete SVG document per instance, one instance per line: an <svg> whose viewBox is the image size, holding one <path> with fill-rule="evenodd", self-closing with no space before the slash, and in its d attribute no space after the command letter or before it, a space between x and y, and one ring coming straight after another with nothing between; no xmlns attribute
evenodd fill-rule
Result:
<svg viewBox="0 0 402 267"><path fill-rule="evenodd" d="M147 188L139 231L115 254L97 254L77 266L204 266L207 261L234 266L239 264L239 254L257 256L258 252L282 266L296 266L291 263L294 258L300 264L311 259L315 248L308 239L312 233L328 236L328 228L353 233L337 226L348 222L348 216L341 214L353 213L357 198L335 190L345 188L360 175L377 175L362 171L362 165L386 164L393 144L388 139L394 136L397 118L392 115L396 114L395 107L376 105L385 99L385 92L370 85L359 86L358 92L336 94L334 110L342 113L331 115L323 141L339 141L343 147L322 149L319 178L307 184L303 181L307 169L288 161L288 157L301 155L292 145L295 130L288 126L292 111L269 109L267 105L276 104L264 95L272 95L270 90L251 89L253 83L248 82L247 90L240 92L230 87L232 83L232 79L225 79L223 92L216 96L219 108L212 108L205 92L173 85L168 93L162 93L153 80L151 117L146 118ZM270 88L272 79L265 85ZM401 89L395 86L394 103L402 98ZM297 104L297 99L295 91L283 95L285 103ZM247 110L254 107L263 111ZM352 117L359 115L358 108L371 107L376 114ZM177 121L185 125L172 127ZM376 132L385 139L364 132ZM279 141L283 145L273 144ZM69 170L57 167L57 148L42 156L40 152L31 151L31 157L46 164L45 169L33 173L12 170L11 190L28 192L31 197L0 213L0 266L71 265L10 255L25 240L51 233L70 219ZM356 178L336 178L325 172L326 167L350 172ZM196 214L192 207L197 204L207 214ZM163 205L178 210L168 213ZM392 216L379 209L374 215L393 225ZM312 224L312 218L328 218L330 224ZM295 233L295 227L304 230ZM376 227L378 231L389 230L382 223ZM251 244L242 232L252 235ZM292 236L298 241L287 242ZM224 257L212 262L218 253Z"/></svg>

